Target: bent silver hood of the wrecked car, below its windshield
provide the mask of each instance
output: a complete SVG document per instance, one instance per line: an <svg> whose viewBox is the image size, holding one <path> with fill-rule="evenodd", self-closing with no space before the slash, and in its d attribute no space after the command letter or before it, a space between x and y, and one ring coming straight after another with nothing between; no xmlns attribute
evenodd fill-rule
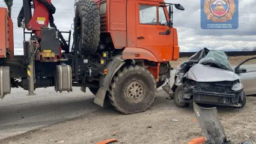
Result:
<svg viewBox="0 0 256 144"><path fill-rule="evenodd" d="M195 64L187 72L187 78L197 82L221 82L240 79L233 71L221 68L209 67L207 65Z"/></svg>

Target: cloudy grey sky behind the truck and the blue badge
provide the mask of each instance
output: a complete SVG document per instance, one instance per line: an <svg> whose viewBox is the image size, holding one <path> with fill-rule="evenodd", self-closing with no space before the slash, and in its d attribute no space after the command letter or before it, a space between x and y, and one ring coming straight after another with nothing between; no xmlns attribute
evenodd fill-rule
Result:
<svg viewBox="0 0 256 144"><path fill-rule="evenodd" d="M238 1L238 0L235 0ZM256 0L239 0L239 28L226 30L205 30L200 26L201 0L165 0L179 3L184 11L174 8L173 23L178 32L180 52L197 52L204 47L224 51L242 50L256 47ZM14 55L23 55L23 29L17 27L17 16L22 1L14 1L12 19L14 22ZM52 0L56 7L55 25L60 31L72 28L75 16L73 0ZM0 1L0 7L5 7ZM28 40L29 35L26 35ZM64 34L67 38L67 35Z"/></svg>

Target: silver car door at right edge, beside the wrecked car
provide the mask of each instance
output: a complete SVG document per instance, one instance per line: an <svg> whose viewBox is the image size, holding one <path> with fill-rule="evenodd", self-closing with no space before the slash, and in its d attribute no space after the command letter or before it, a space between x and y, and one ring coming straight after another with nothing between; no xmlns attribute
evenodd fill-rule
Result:
<svg viewBox="0 0 256 144"><path fill-rule="evenodd" d="M242 72L243 69L243 72ZM237 72L239 71L240 72ZM246 71L245 71L246 70ZM246 95L256 94L256 57L246 59L235 68L243 83L243 89Z"/></svg>

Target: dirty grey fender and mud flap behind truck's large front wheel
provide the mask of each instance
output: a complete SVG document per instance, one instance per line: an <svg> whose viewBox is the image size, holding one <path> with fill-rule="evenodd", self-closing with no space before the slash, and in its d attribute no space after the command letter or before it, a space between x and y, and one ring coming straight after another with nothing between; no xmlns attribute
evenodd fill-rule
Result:
<svg viewBox="0 0 256 144"><path fill-rule="evenodd" d="M94 98L94 103L101 107L111 106L109 101L106 100L106 93L109 91L109 85L115 73L125 64L122 55L115 56L114 60L109 62L107 65L108 74L100 77L100 88Z"/></svg>

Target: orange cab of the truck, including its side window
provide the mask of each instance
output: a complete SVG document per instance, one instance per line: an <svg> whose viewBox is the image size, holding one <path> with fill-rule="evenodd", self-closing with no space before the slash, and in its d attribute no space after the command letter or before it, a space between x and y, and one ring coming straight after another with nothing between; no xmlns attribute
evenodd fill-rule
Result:
<svg viewBox="0 0 256 144"><path fill-rule="evenodd" d="M115 49L124 49L124 59L147 59L159 64L179 58L177 29L169 28L168 10L159 4L164 0L93 1L99 7L101 33L110 34ZM168 30L169 35L165 33ZM159 77L159 70L148 69Z"/></svg>

